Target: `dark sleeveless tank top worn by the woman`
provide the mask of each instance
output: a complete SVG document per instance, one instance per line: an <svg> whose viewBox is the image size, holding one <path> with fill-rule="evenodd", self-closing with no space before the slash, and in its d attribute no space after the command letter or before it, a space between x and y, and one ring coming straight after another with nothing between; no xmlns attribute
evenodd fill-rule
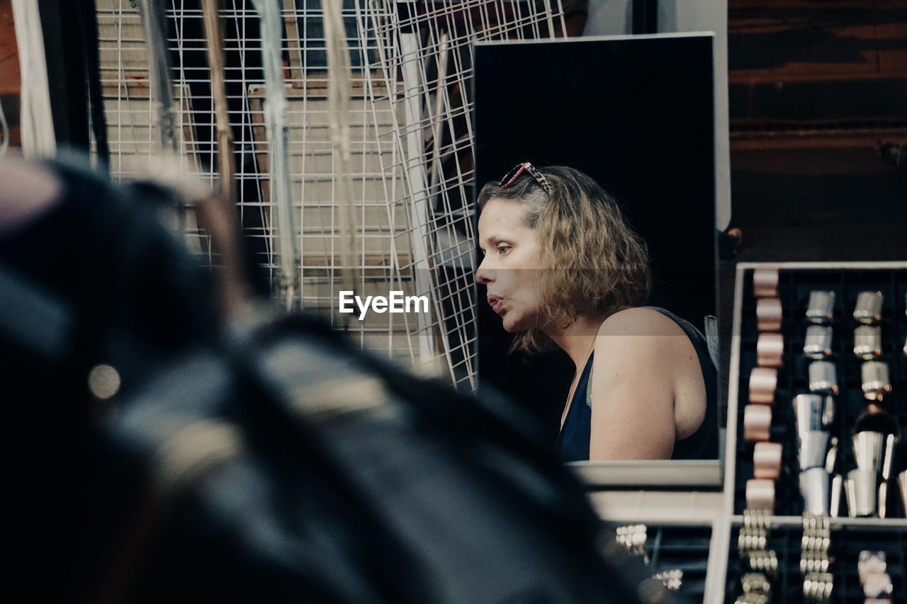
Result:
<svg viewBox="0 0 907 604"><path fill-rule="evenodd" d="M717 459L718 457L718 420L717 420L717 370L708 355L706 338L702 333L674 313L659 307L647 307L657 310L665 317L670 318L684 330L689 341L693 343L702 368L702 379L706 384L706 416L702 419L696 432L687 438L674 442L674 452L671 459ZM580 381L567 412L567 418L561 427L561 434L554 443L554 450L561 462L586 462L589 461L589 438L592 426L592 409L589 404L589 378L592 373L592 356L582 368Z"/></svg>

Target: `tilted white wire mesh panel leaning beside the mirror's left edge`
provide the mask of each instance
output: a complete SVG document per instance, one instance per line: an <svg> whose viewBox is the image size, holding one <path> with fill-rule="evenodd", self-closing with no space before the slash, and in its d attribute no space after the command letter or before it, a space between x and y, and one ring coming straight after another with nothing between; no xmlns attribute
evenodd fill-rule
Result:
<svg viewBox="0 0 907 604"><path fill-rule="evenodd" d="M358 31L375 36L380 65L364 73L366 87L376 101L386 93L398 108L387 137L399 152L383 157L382 169L385 180L394 180L387 203L407 216L408 232L395 237L409 250L409 264L400 268L412 272L416 291L434 294L434 317L416 325L415 352L423 361L444 355L454 384L473 387L471 46L553 35L563 29L561 3L357 0L356 7L367 17ZM365 37L360 46L369 47ZM397 85L375 85L389 81Z"/></svg>

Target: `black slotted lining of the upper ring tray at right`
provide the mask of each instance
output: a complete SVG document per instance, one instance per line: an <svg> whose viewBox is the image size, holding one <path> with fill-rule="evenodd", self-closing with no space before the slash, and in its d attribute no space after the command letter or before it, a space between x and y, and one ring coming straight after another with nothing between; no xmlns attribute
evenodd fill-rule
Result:
<svg viewBox="0 0 907 604"><path fill-rule="evenodd" d="M756 367L756 297L753 295L752 269L744 275L743 301L740 307L740 364L737 375L739 402L737 405L736 483L734 513L746 508L746 481L753 477L753 443L743 439L743 409L749 399L749 375ZM853 466L851 429L863 413L868 401L863 397L860 374L863 361L853 355L853 330L859 324L853 319L853 307L862 291L881 291L883 294L882 359L888 364L892 393L881 405L907 437L907 357L904 338L907 337L907 317L904 316L904 297L907 296L907 268L804 268L779 271L778 297L781 299L784 336L783 365L778 369L775 403L772 405L771 441L784 447L781 476L775 482L775 515L800 515L803 502L799 490L797 435L792 401L795 395L809 392L807 365L803 346L806 327L806 307L814 289L834 291L834 320L832 327L833 354L829 361L837 370L840 395L836 398L834 424L830 435L838 439L836 467ZM904 517L900 497L889 492L889 517Z"/></svg>

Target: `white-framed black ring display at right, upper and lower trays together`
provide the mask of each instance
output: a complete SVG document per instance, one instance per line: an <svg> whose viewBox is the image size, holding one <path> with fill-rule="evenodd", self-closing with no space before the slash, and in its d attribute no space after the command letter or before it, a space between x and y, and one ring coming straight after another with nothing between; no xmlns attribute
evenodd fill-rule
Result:
<svg viewBox="0 0 907 604"><path fill-rule="evenodd" d="M737 538L744 522L746 482L754 477L753 443L744 439L744 409L749 403L749 378L757 366L756 342L759 331L756 320L756 296L753 273L756 269L778 270L777 297L782 306L781 335L784 338L783 363L777 369L775 400L772 406L770 441L783 447L782 467L775 480L774 511L769 515L770 529L766 550L776 554L777 570L766 572L775 604L813 601L805 599L804 574L801 558L804 536L804 503L799 489L798 438L796 434L793 399L809 393L808 365L813 359L804 354L805 333L811 323L806 318L810 293L813 290L834 292L833 354L825 360L835 365L839 394L835 397L834 421L827 430L837 439L835 472L845 473L854 466L852 431L857 418L867 404L873 403L863 395L861 367L863 359L853 353L853 332L860 325L853 318L857 297L863 291L879 291L883 309L879 325L882 329L882 357L889 369L890 393L879 406L890 414L907 440L907 357L904 356L907 338L907 262L899 263L783 263L746 264L737 268L737 299L735 301L735 340L732 350L729 421L734 423L736 437L727 443L726 463L733 468L733 477L726 483L729 493L726 511L730 513L727 532L727 575L724 592L712 591L707 602L735 602L742 593L741 579L752 572L738 554ZM736 356L736 360L735 360ZM730 428L731 426L729 426ZM902 462L901 462L902 463ZM858 577L861 551L883 551L887 573L892 580L892 602L907 602L907 520L892 477L885 519L850 518L844 493L841 494L841 517L830 519L828 572L833 575L833 590L829 601L859 602L866 596Z"/></svg>

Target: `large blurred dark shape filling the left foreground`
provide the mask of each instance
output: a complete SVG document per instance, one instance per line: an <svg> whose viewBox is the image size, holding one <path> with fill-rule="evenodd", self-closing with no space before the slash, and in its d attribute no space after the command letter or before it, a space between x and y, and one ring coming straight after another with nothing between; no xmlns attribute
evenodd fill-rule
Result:
<svg viewBox="0 0 907 604"><path fill-rule="evenodd" d="M61 200L0 235L0 311L19 317L0 325L10 592L668 601L515 405L268 306L218 321L204 274L141 200L54 172ZM87 386L98 364L122 382L109 399Z"/></svg>

